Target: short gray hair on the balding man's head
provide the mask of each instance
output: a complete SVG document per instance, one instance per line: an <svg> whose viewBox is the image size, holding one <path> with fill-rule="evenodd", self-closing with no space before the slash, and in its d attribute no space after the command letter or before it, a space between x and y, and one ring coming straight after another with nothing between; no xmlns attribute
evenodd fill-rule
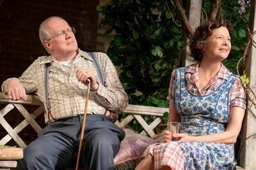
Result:
<svg viewBox="0 0 256 170"><path fill-rule="evenodd" d="M39 38L40 38L40 41L42 43L42 45L44 46L45 50L47 50L47 52L49 54L51 54L51 51L49 51L47 49L47 47L45 46L44 42L49 40L51 38L51 35L50 33L45 29L44 25L49 21L49 20L52 20L52 19L62 19L62 20L65 20L61 17L58 17L58 16L54 16L54 17L49 17L47 19L45 19L41 24L40 24L40 27L39 27ZM65 20L67 22L67 20Z"/></svg>

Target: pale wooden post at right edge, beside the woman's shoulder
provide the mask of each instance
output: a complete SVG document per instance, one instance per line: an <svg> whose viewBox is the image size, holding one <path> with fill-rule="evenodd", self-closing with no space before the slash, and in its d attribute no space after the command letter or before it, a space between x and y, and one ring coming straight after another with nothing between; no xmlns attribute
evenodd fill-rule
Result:
<svg viewBox="0 0 256 170"><path fill-rule="evenodd" d="M250 32L256 31L256 16L255 16L255 1L251 1L250 7ZM256 40L256 36L253 37ZM250 87L256 92L256 48L252 45L251 52L246 61L246 72L250 79ZM249 94L252 97L252 94ZM254 102L255 102L254 98ZM256 169L256 109L254 106L250 107L252 102L247 102L247 114L244 117L242 128L241 144L244 144L241 148L240 165L244 169ZM250 137L252 135L252 137ZM250 137L246 140L247 137Z"/></svg>

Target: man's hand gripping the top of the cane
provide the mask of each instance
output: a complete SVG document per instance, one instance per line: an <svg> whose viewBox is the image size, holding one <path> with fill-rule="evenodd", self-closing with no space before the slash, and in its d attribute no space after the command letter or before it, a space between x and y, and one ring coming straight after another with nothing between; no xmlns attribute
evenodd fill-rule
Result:
<svg viewBox="0 0 256 170"><path fill-rule="evenodd" d="M95 72L92 68L83 68L76 70L76 78L77 81L82 82L84 85L88 85L87 79L90 79L91 86L90 90L96 91L99 88L99 84L97 82Z"/></svg>

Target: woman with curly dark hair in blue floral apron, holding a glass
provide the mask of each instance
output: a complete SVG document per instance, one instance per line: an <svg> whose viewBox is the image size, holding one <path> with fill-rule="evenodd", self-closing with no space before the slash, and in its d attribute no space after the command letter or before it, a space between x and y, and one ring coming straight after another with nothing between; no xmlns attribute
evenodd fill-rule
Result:
<svg viewBox="0 0 256 170"><path fill-rule="evenodd" d="M233 169L234 143L246 109L246 93L237 75L221 63L234 28L228 20L199 26L189 45L195 65L173 70L169 121L180 134L164 131L162 144L150 146L136 169ZM178 141L172 141L175 137Z"/></svg>

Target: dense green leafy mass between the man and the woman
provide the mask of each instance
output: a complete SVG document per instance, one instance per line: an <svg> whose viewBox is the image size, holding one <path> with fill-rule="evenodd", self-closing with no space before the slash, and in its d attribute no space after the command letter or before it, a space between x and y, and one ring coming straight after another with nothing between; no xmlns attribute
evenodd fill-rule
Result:
<svg viewBox="0 0 256 170"><path fill-rule="evenodd" d="M170 8L174 9L172 3ZM109 26L107 33L116 32L108 55L122 70L120 79L129 102L160 106L147 100L166 100L170 73L184 40L182 29L173 23L166 10L165 1L111 1L111 5L97 9L104 15L100 26ZM179 16L172 12L180 24ZM136 91L141 92L140 97L132 95Z"/></svg>

